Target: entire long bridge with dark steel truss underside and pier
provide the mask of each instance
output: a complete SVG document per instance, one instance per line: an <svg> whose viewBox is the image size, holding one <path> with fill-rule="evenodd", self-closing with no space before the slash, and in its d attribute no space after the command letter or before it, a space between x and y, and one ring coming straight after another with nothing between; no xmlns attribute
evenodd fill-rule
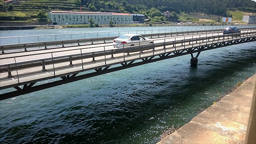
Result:
<svg viewBox="0 0 256 144"><path fill-rule="evenodd" d="M190 54L191 65L197 65L202 51L256 41L256 28L240 30L228 35L222 29L144 34L153 44L123 48L109 42L116 37L1 45L0 90L14 89L0 100L181 55ZM36 47L43 49L29 49ZM17 49L23 51L10 51Z"/></svg>

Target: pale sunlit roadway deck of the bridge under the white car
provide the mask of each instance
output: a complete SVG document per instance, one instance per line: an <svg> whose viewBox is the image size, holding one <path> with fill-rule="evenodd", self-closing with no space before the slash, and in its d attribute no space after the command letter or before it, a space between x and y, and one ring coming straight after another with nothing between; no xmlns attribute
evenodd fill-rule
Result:
<svg viewBox="0 0 256 144"><path fill-rule="evenodd" d="M10 87L18 90L27 89L27 85L31 84L30 87L32 87L38 81L61 78L59 83L48 83L52 87L180 55L191 54L193 57L193 53L196 52L199 55L204 50L255 41L255 37L255 31L250 30L235 37L211 33L210 35L157 38L154 39L154 44L118 49L113 48L111 44L98 44L98 46L93 45L94 48L78 46L80 49L61 52L25 52L13 57L4 54L1 55L0 62L0 89ZM84 47L85 49L81 49ZM31 54L37 52L38 54ZM7 70L8 68L10 70ZM84 76L78 78L76 75ZM19 88L20 85L24 85L23 88ZM40 89L47 87L49 86Z"/></svg>

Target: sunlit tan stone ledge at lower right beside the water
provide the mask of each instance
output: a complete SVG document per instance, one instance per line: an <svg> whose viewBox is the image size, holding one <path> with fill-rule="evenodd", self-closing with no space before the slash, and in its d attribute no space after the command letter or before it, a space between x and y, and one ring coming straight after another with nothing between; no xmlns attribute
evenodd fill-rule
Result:
<svg viewBox="0 0 256 144"><path fill-rule="evenodd" d="M244 144L255 75L158 144Z"/></svg>

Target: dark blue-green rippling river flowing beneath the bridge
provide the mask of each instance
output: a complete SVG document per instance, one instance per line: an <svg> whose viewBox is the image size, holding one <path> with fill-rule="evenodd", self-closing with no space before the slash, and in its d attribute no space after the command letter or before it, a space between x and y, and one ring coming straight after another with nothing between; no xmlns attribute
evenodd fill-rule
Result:
<svg viewBox="0 0 256 144"><path fill-rule="evenodd" d="M152 28L160 27L144 29ZM0 36L115 30L9 30ZM154 144L254 75L256 43L201 52L197 67L190 59L184 55L2 100L0 142Z"/></svg>

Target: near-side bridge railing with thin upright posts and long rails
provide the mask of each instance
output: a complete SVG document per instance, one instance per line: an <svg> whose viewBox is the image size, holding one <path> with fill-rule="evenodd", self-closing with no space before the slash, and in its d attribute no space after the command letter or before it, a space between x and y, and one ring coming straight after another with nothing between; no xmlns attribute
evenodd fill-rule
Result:
<svg viewBox="0 0 256 144"><path fill-rule="evenodd" d="M130 61L130 54L136 53L139 55L137 59L141 59L143 51L152 50L149 52L152 52L152 55L155 55L155 50L159 47L164 50L171 48L175 52L178 49L186 50L194 46L202 46L213 42L224 42L245 37L255 37L256 33L255 31L248 31L241 33L240 35L237 33L228 35L213 35L212 33L211 36L207 35L209 34L201 34L199 37L192 36L192 38L191 36L184 36L183 39L169 37L163 39L164 42L154 42L153 44L130 46L119 49L106 49L106 46L101 46L94 47L102 48L102 50L98 51L90 51L89 48L80 48L78 50L66 50L64 51L66 54L63 54L62 51L61 54L59 52L48 52L43 54L2 58L1 61L7 61L7 63L0 65L0 80L13 78L16 79L18 83L22 84L20 78L23 76L35 74L35 79L38 79L37 74L45 71L56 78L67 75L67 73L61 73L61 70L67 68L72 69L74 67L81 66L81 71L84 71L94 70L97 65L99 67L108 66L110 64L108 61L112 60L113 57L120 60L118 63L123 63L125 61ZM37 58L30 60L31 57ZM92 63L94 63L94 66L91 66ZM111 65L113 65L113 63L111 63ZM76 72L70 71L70 73L74 74ZM5 87L7 86L1 85L0 89L5 89Z"/></svg>

